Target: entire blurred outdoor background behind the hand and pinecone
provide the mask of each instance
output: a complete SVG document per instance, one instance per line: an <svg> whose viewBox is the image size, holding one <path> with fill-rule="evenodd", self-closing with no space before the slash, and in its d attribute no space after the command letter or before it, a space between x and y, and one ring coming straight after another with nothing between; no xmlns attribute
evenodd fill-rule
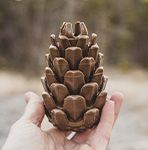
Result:
<svg viewBox="0 0 148 150"><path fill-rule="evenodd" d="M108 150L148 149L148 0L0 0L0 147L23 114L23 94L43 91L50 35L77 20L98 35L109 95L124 94Z"/></svg>

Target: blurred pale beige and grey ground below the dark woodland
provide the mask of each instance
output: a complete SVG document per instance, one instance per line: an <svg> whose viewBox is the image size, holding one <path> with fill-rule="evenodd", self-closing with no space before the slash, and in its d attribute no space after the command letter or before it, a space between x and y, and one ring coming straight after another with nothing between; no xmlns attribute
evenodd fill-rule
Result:
<svg viewBox="0 0 148 150"><path fill-rule="evenodd" d="M113 128L108 150L148 150L148 73L142 70L122 72L107 69L109 95L115 91L124 94L124 103ZM32 90L41 95L39 78L0 72L0 148L11 125L23 114L26 106L23 94ZM42 128L51 124L44 119Z"/></svg>

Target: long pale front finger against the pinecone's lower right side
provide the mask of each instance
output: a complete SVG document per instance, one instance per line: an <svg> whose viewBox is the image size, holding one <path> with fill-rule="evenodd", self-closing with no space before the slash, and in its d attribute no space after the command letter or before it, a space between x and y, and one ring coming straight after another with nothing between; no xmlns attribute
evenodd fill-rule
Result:
<svg viewBox="0 0 148 150"><path fill-rule="evenodd" d="M91 140L91 147L106 150L114 123L114 102L107 101L103 107L100 122Z"/></svg>

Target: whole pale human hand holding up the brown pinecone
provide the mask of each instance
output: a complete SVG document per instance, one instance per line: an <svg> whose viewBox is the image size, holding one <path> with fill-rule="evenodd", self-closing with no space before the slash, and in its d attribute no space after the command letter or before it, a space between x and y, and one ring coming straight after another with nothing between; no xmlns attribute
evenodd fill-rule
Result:
<svg viewBox="0 0 148 150"><path fill-rule="evenodd" d="M113 94L103 107L98 126L76 133L71 140L66 138L69 132L56 127L42 131L40 126L45 115L43 102L33 92L26 93L25 100L24 115L11 127L2 150L105 150L123 96Z"/></svg>

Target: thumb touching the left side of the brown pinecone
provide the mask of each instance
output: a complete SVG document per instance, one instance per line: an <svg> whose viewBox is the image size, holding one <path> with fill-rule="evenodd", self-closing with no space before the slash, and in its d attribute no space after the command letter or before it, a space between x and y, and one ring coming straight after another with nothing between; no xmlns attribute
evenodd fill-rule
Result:
<svg viewBox="0 0 148 150"><path fill-rule="evenodd" d="M25 108L23 117L29 119L37 126L40 126L45 115L43 101L33 92L27 92L24 95L24 98L27 106Z"/></svg>

